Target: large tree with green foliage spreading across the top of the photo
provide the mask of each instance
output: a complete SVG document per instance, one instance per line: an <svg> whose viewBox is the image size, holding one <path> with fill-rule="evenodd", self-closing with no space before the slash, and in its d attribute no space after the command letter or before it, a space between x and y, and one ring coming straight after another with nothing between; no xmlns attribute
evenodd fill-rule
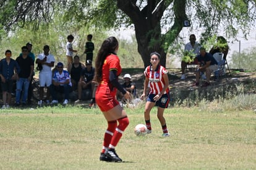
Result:
<svg viewBox="0 0 256 170"><path fill-rule="evenodd" d="M205 41L220 28L228 38L238 30L246 36L255 23L255 7L255 0L7 0L0 1L0 34L25 23L36 29L58 11L66 22L81 23L78 29L133 28L144 66L153 51L161 54L165 66L166 53L183 27L195 33L200 29Z"/></svg>

